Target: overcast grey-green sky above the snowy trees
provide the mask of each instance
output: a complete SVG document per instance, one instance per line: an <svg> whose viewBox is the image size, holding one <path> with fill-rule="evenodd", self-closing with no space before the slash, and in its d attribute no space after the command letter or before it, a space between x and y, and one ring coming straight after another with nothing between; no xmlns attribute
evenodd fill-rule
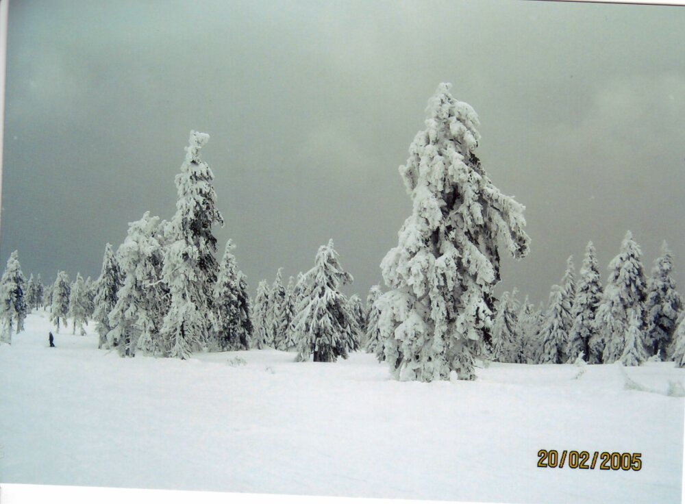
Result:
<svg viewBox="0 0 685 504"><path fill-rule="evenodd" d="M479 114L493 182L526 205L530 255L498 291L547 301L588 240L606 279L632 230L685 293L685 8L540 1L10 3L0 260L99 275L106 242L175 211L190 129L211 136L252 292L333 238L382 281L411 203L397 167L440 81Z"/></svg>

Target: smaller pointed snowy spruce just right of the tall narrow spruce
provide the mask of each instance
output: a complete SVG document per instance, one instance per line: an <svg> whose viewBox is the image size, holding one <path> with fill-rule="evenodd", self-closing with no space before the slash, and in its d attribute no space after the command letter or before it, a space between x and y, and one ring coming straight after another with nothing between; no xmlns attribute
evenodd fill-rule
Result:
<svg viewBox="0 0 685 504"><path fill-rule="evenodd" d="M214 312L212 323L219 342L219 348L226 350L247 350L251 333L249 298L247 284L236 266L232 240L226 243L226 251L219 263L219 274L214 284Z"/></svg>

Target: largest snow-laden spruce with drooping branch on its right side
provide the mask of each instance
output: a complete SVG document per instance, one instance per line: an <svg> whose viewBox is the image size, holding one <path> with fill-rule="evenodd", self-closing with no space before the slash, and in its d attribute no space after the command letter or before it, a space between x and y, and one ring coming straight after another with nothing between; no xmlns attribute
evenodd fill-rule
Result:
<svg viewBox="0 0 685 504"><path fill-rule="evenodd" d="M500 279L497 240L524 257L523 205L497 189L476 155L477 115L449 84L429 100L426 128L399 171L413 201L381 268L384 353L397 379L475 379L486 352L493 288Z"/></svg>

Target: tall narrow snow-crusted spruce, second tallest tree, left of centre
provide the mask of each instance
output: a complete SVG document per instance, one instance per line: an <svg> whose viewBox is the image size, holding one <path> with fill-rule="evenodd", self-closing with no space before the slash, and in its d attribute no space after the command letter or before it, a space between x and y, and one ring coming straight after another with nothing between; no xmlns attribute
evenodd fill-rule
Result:
<svg viewBox="0 0 685 504"><path fill-rule="evenodd" d="M169 223L162 277L169 287L171 303L164 316L162 337L169 355L187 359L210 340L212 289L218 264L214 258L214 224L223 225L212 186L214 174L200 159L200 149L209 135L190 131L186 159L176 175L176 213Z"/></svg>

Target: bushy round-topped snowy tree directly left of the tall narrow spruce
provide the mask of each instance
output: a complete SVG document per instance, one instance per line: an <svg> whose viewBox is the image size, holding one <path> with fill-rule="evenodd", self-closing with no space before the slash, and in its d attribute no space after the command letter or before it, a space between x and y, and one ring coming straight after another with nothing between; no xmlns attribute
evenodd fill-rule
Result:
<svg viewBox="0 0 685 504"><path fill-rule="evenodd" d="M129 223L128 234L117 250L116 264L123 278L110 311L107 334L119 355L133 357L138 350L169 355L171 344L160 337L162 317L168 309L166 286L161 280L164 225L145 212Z"/></svg>

